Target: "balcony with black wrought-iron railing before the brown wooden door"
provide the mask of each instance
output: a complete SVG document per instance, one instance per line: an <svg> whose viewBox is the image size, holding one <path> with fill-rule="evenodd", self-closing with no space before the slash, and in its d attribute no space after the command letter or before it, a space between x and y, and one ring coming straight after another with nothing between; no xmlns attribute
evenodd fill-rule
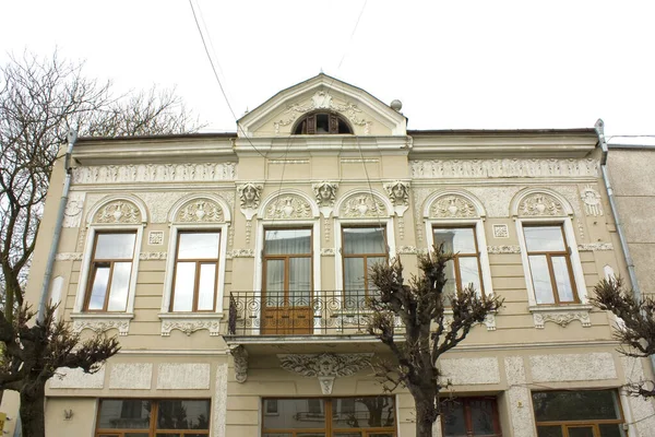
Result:
<svg viewBox="0 0 655 437"><path fill-rule="evenodd" d="M303 351L321 352L326 343L340 351L377 349L380 341L368 333L371 309L369 295L358 291L320 292L233 292L229 296L229 345L271 345L289 350L298 344ZM402 327L398 327L402 333ZM263 352L258 347L259 352ZM274 352L274 351L270 351Z"/></svg>

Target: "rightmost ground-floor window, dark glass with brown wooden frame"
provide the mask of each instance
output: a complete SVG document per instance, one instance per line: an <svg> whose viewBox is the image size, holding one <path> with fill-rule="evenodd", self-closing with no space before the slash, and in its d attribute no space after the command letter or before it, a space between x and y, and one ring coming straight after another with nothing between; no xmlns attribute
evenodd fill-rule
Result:
<svg viewBox="0 0 655 437"><path fill-rule="evenodd" d="M539 437L626 437L615 390L533 392Z"/></svg>

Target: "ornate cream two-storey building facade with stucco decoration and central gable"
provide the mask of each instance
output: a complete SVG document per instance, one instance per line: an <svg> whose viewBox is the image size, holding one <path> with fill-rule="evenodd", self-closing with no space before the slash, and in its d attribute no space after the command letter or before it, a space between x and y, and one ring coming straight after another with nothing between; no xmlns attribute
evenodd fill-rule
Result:
<svg viewBox="0 0 655 437"><path fill-rule="evenodd" d="M78 141L50 298L122 349L49 382L48 435L413 436L410 394L371 376L367 272L433 244L452 293L504 298L440 362L436 435L650 435L653 404L618 389L650 367L588 305L626 271L596 131L412 131L400 109L320 74L236 133Z"/></svg>

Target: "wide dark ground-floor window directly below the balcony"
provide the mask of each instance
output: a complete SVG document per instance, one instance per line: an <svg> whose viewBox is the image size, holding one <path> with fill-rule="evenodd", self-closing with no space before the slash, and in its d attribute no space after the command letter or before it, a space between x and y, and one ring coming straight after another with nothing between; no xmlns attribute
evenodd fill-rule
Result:
<svg viewBox="0 0 655 437"><path fill-rule="evenodd" d="M264 399L262 437L395 437L393 397Z"/></svg>

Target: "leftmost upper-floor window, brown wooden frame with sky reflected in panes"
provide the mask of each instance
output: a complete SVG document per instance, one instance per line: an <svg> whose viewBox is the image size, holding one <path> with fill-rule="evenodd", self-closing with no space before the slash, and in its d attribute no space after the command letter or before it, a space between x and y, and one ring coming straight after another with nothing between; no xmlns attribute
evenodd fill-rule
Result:
<svg viewBox="0 0 655 437"><path fill-rule="evenodd" d="M135 238L134 232L95 234L84 310L126 310Z"/></svg>

